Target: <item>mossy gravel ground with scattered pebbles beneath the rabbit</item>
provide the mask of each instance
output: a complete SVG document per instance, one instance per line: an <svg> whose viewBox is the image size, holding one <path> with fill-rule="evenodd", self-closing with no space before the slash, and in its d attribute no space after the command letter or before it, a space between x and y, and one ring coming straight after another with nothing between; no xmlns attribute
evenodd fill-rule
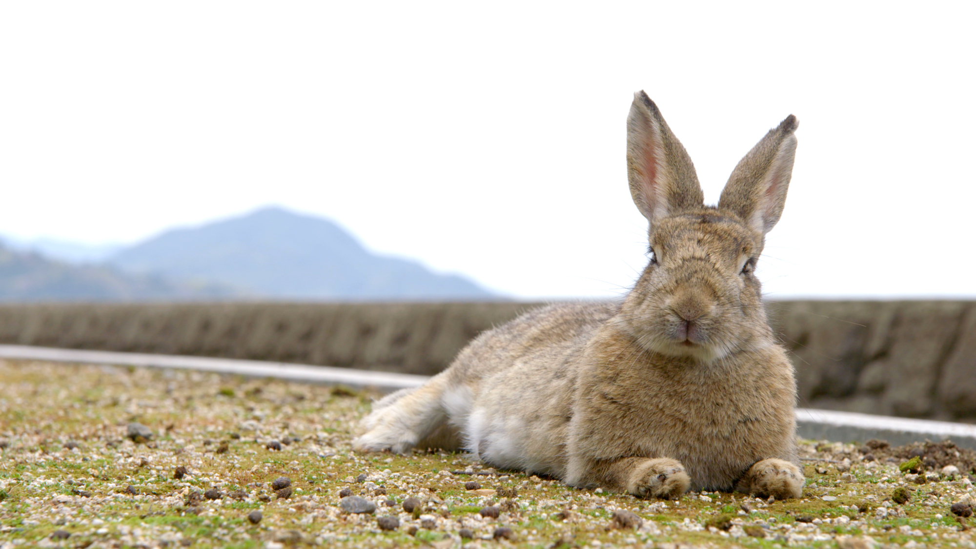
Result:
<svg viewBox="0 0 976 549"><path fill-rule="evenodd" d="M463 454L355 454L370 397L0 361L0 547L976 548L976 459L952 444L804 441L801 499L641 500Z"/></svg>

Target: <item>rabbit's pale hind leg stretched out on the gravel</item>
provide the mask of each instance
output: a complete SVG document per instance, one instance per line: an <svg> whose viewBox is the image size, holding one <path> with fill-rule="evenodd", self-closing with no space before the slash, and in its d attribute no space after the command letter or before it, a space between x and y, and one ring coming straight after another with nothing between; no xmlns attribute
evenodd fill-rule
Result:
<svg viewBox="0 0 976 549"><path fill-rule="evenodd" d="M456 414L467 415L469 398L452 389L448 372L416 389L401 389L373 404L362 421L366 433L352 441L356 451L407 453L414 447L461 447ZM461 397L459 399L459 397ZM450 417L449 417L450 416Z"/></svg>

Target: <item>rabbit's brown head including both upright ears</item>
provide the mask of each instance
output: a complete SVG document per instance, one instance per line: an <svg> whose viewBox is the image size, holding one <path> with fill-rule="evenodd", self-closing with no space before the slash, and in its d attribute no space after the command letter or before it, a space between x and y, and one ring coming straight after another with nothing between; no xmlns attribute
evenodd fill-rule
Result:
<svg viewBox="0 0 976 549"><path fill-rule="evenodd" d="M628 117L630 193L650 222L651 260L618 320L640 345L712 362L772 341L753 271L793 171L793 115L739 162L718 206L706 206L695 167L644 92Z"/></svg>

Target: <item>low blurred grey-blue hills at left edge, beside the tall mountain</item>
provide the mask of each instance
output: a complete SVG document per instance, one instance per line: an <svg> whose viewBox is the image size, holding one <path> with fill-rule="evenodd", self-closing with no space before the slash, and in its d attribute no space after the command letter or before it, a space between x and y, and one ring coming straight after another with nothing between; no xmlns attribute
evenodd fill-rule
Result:
<svg viewBox="0 0 976 549"><path fill-rule="evenodd" d="M0 301L144 301L227 298L219 284L187 284L157 275L76 266L0 245Z"/></svg>

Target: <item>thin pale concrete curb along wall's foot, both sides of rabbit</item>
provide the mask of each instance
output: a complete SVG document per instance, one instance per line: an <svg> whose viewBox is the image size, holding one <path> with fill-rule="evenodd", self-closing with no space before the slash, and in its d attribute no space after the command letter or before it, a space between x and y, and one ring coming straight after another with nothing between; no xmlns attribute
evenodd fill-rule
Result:
<svg viewBox="0 0 976 549"><path fill-rule="evenodd" d="M329 366L311 366L263 360L212 359L80 351L24 345L0 345L0 359L34 359L56 362L118 364L157 368L190 369L249 377L272 377L290 381L372 387L393 391L418 387L429 379L423 375L409 375L371 370L354 370ZM961 447L976 449L976 425L888 417L864 413L841 412L810 408L796 409L797 434L804 439L838 442L865 442L870 439L887 441L893 445L925 440L952 440Z"/></svg>

